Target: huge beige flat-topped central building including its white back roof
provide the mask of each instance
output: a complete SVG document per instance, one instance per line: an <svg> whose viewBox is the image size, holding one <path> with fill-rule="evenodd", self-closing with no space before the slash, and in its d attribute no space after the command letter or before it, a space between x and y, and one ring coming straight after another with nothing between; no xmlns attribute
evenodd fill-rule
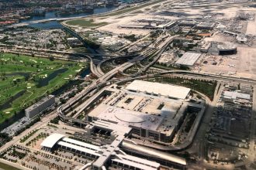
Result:
<svg viewBox="0 0 256 170"><path fill-rule="evenodd" d="M182 101L189 91L186 87L134 80L123 93L112 93L87 118L99 129L123 127L116 131L123 129L122 133L170 142L185 117L188 104Z"/></svg>

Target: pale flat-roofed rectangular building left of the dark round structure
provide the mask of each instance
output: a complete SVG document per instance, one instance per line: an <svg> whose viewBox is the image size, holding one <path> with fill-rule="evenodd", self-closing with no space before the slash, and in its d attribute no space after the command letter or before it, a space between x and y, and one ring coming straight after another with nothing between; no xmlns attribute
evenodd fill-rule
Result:
<svg viewBox="0 0 256 170"><path fill-rule="evenodd" d="M176 64L180 65L185 65L185 66L193 66L194 63L199 59L201 56L201 53L192 53L192 52L187 52L183 54L181 58L176 61Z"/></svg>

